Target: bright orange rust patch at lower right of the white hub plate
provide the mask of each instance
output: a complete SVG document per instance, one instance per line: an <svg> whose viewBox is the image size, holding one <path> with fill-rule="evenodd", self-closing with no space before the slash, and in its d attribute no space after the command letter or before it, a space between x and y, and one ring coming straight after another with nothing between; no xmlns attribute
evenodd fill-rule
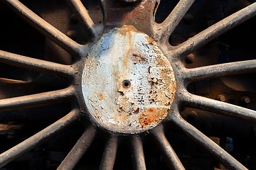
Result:
<svg viewBox="0 0 256 170"><path fill-rule="evenodd" d="M140 114L139 123L142 128L146 128L149 125L156 125L166 117L167 113L167 108L147 108L146 111Z"/></svg>

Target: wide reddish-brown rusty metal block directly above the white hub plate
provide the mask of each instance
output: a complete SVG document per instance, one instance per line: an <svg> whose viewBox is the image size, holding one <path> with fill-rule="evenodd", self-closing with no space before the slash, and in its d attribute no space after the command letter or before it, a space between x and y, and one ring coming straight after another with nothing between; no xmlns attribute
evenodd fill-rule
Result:
<svg viewBox="0 0 256 170"><path fill-rule="evenodd" d="M105 28L111 29L124 25L134 26L137 30L152 36L153 13L158 4L159 0L143 0L131 5L122 4L118 1L103 0Z"/></svg>

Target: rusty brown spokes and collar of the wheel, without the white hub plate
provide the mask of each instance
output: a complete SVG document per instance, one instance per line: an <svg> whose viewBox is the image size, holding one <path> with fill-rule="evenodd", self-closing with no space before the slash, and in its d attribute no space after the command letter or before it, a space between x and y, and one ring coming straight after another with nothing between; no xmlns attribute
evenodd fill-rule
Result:
<svg viewBox="0 0 256 170"><path fill-rule="evenodd" d="M226 115L231 118L238 118L250 123L256 123L255 111L229 103L215 101L210 98L196 96L195 94L189 93L187 90L188 84L193 81L255 72L256 61L248 60L235 63L216 64L193 69L183 67L182 61L184 57L191 54L191 52L197 50L199 47L206 45L206 43L211 40L218 38L219 35L255 16L256 4L251 4L250 6L233 13L222 21L219 21L206 30L203 30L201 33L194 35L192 38L186 40L180 45L171 46L168 42L169 36L173 33L178 23L191 7L193 1L179 1L163 23L155 23L154 15L156 14L159 1L138 1L136 2L137 6L131 7L130 4L118 4L110 0L102 0L101 4L104 22L99 26L95 26L95 23L93 23L81 1L70 1L70 6L78 14L83 28L90 31L92 40L85 45L80 45L71 40L68 36L61 33L53 26L50 26L49 23L43 21L42 18L38 17L26 6L23 6L19 1L7 0L4 2L25 21L30 23L31 26L38 29L43 33L43 35L46 35L47 38L73 55L75 62L72 65L58 64L0 51L0 61L3 63L35 72L63 77L68 79L70 84L67 88L57 91L2 99L0 101L1 111L31 108L61 101L69 101L73 105L73 111L68 113L68 115L65 115L65 117L56 121L41 132L38 132L36 135L33 135L15 147L2 153L0 155L1 166L8 164L12 160L21 156L21 154L24 154L33 147L36 147L38 144L41 144L41 142L48 140L48 138L57 134L63 128L67 128L68 125L82 117L89 120L91 125L85 129L85 132L65 157L58 169L73 169L92 144L97 132L102 129L105 129L105 132L110 134L110 138L106 142L100 169L113 169L117 154L117 147L119 145L118 140L119 137L122 137L123 135L131 136L130 142L132 144L131 149L134 157L133 164L135 169L146 169L142 142L142 136L144 135L142 132L144 131L149 132L149 134L153 136L156 144L161 149L162 156L166 159L166 164L171 169L184 169L183 164L169 144L169 141L166 139L164 127L168 123L176 125L181 132L188 135L188 137L196 142L196 144L207 149L208 152L218 159L218 161L226 168L246 169L245 166L230 156L228 152L216 145L215 142L206 137L206 135L186 122L186 120L181 117L180 112L181 108L184 106L190 106L203 111L212 111L214 113L219 113L220 115ZM127 12L127 8L128 11L132 10L132 12ZM148 8L149 10L145 11L143 10L144 8ZM113 15L117 12L117 9L119 10L120 16L114 18ZM102 35L109 33L113 28L120 28L124 25L134 26L145 35L147 34L152 37L158 44L159 49L164 53L169 62L171 62L171 68L174 69L176 96L174 98L174 102L172 102L173 98L170 101L171 108L169 109L168 115L165 115L162 118L164 120L162 120L161 123L157 122L152 125L152 127L146 128L145 130L142 130L143 127L139 130L130 129L127 131L122 131L120 129L114 130L114 127L108 128L108 125L102 125L102 123L98 123L97 120L93 120L90 116L92 110L87 108L88 103L86 102L86 99L84 101L84 98L90 97L85 96L86 91L88 91L88 88L92 88L91 85L87 89L85 88L86 90L84 91L81 83L83 72L90 69L90 67L84 69L86 66L85 62L87 61L86 58L88 52L92 48L92 45L102 38ZM86 84L86 82L84 84ZM106 119L108 119L108 117ZM120 124L120 126L122 125L123 124Z"/></svg>

